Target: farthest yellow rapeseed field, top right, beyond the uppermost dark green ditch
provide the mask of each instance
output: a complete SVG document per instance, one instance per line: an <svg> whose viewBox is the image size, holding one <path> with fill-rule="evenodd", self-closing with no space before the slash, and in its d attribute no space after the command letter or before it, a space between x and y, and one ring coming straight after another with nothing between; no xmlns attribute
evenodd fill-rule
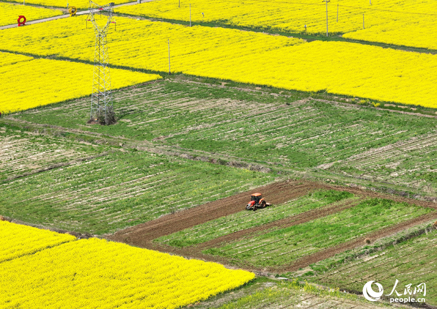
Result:
<svg viewBox="0 0 437 309"><path fill-rule="evenodd" d="M321 1L181 0L179 7L178 1L159 0L120 7L116 12L190 21L190 4L191 19L197 23L297 33L304 32L306 25L307 33L326 33L326 5ZM347 38L437 49L436 14L434 0L332 0L328 30L331 35L351 32Z"/></svg>

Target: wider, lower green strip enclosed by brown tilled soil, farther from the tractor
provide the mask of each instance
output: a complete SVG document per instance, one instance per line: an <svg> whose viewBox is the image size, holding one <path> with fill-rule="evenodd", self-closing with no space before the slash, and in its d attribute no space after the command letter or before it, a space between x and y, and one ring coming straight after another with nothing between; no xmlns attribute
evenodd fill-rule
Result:
<svg viewBox="0 0 437 309"><path fill-rule="evenodd" d="M257 266L284 265L432 211L392 200L368 199L339 213L287 228L272 229L221 248L207 249L204 253L225 256L237 263L248 261Z"/></svg>

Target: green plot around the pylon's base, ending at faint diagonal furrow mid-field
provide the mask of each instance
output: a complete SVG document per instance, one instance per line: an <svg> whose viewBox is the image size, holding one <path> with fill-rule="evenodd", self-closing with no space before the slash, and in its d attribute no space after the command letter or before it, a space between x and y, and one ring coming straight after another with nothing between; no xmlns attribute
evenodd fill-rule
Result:
<svg viewBox="0 0 437 309"><path fill-rule="evenodd" d="M114 110L120 121L112 126L86 125L89 120L88 98L57 105L57 109L46 106L28 110L13 117L151 141L160 136L220 126L236 118L242 120L308 96L298 92L293 94L291 97L275 97L232 88L164 81L117 91Z"/></svg>

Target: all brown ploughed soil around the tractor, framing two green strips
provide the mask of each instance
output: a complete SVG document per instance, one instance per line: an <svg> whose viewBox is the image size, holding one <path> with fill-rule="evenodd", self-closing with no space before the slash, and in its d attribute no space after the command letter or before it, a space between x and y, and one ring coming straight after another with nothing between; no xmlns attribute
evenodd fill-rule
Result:
<svg viewBox="0 0 437 309"><path fill-rule="evenodd" d="M254 192L261 192L263 194L263 197L268 202L271 202L273 204L280 204L280 203L285 203L293 198L303 196L316 189L343 190L361 196L361 199L375 198L375 197L388 198L400 202L414 203L422 207L430 207L437 210L437 203L434 202L410 199L401 196L378 193L373 191L367 191L359 188L330 186L327 184L310 182L310 181L289 180L284 182L273 183L267 186L256 188L251 191L242 192L234 196L209 202L204 205L200 205L198 207L181 211L175 214L169 214L161 218L118 231L113 235L109 235L107 238L112 241L122 242L142 248L158 250L161 252L168 252L168 253L182 255L186 257L198 258L207 261L227 264L228 260L226 258L222 258L219 256L205 255L202 253L202 250L216 247L219 244L223 245L224 243L233 242L236 239L244 237L244 235L248 235L253 232L260 232L273 227L288 227L288 226L308 222L317 218L325 217L330 214L354 207L354 205L359 203L361 199L336 204L335 206L328 205L327 207L318 210L310 210L290 218L277 220L258 227L237 231L222 237L217 237L209 242L205 242L197 246L191 246L186 248L175 248L175 247L153 243L153 239L164 235L169 235L171 233L183 230L185 228L190 228L195 225L208 222L210 220L214 220L223 216L228 216L240 211L245 211L244 207L247 201L249 200L251 194ZM353 239L352 241L310 254L308 256L300 258L299 260L289 265L274 267L271 269L270 268L261 269L253 265L244 264L244 268L249 270L263 270L263 271L270 270L270 271L278 271L278 272L296 270L300 267L306 267L309 264L315 263L317 261L321 261L328 257L332 257L337 253L344 252L345 250L350 250L356 247L363 246L365 238L368 238L370 239L371 242L373 242L376 239L389 236L401 230L413 227L415 225L427 222L432 219L437 219L437 212L423 215L418 218L414 218L405 221L403 223L397 224L395 226L389 226L382 230L369 233L357 239Z"/></svg>

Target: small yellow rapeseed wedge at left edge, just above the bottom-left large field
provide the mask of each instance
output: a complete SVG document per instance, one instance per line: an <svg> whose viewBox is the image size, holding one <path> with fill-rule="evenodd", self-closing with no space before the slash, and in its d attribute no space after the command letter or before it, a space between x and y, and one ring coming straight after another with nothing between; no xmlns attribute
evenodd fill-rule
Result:
<svg viewBox="0 0 437 309"><path fill-rule="evenodd" d="M76 237L49 230L0 221L0 263L71 242ZM1 268L1 266L0 266Z"/></svg>

